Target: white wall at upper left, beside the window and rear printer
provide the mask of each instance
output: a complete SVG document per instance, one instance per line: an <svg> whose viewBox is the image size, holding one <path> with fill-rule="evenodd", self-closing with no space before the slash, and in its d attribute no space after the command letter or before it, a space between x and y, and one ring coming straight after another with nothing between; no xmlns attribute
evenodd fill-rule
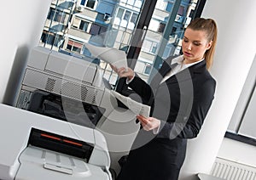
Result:
<svg viewBox="0 0 256 180"><path fill-rule="evenodd" d="M26 62L28 51L38 45L50 2L22 0L1 3L0 103L3 103L14 62L17 69L21 61Z"/></svg>

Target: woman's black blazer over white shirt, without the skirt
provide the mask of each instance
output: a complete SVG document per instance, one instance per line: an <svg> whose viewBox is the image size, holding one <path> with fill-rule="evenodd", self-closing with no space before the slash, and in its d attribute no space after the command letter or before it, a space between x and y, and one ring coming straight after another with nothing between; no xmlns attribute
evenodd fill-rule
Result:
<svg viewBox="0 0 256 180"><path fill-rule="evenodd" d="M203 60L160 84L171 62L166 59L150 85L135 76L129 86L151 105L151 116L161 121L158 138L195 138L212 104L216 82Z"/></svg>

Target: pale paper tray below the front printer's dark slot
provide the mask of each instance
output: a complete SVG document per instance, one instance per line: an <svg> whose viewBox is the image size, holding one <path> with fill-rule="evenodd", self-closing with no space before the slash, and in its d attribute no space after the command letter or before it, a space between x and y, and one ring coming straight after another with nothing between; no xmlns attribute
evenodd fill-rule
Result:
<svg viewBox="0 0 256 180"><path fill-rule="evenodd" d="M107 172L70 155L28 146L20 155L20 168L15 180L107 180Z"/></svg>

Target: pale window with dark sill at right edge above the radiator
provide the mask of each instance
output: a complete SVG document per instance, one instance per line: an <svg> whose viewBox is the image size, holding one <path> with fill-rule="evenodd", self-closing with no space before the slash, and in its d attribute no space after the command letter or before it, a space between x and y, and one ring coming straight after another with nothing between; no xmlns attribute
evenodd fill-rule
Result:
<svg viewBox="0 0 256 180"><path fill-rule="evenodd" d="M226 138L232 138L243 143L256 146L256 55L253 64L247 74L236 109L230 120L230 125L225 134Z"/></svg>

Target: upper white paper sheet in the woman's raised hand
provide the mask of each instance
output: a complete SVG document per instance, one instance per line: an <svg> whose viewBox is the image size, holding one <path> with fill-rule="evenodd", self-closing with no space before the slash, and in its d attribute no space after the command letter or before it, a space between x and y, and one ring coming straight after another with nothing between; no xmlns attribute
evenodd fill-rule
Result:
<svg viewBox="0 0 256 180"><path fill-rule="evenodd" d="M103 61L116 66L118 69L125 67L127 70L128 66L125 51L116 48L96 47L86 42L84 43L84 46L88 48L95 58L102 59Z"/></svg>

